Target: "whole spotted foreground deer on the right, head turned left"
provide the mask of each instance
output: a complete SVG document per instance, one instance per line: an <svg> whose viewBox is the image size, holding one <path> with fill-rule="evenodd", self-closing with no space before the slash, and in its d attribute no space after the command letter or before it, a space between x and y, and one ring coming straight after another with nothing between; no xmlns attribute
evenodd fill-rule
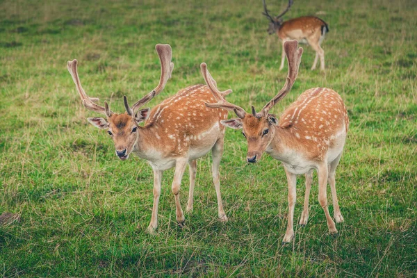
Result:
<svg viewBox="0 0 417 278"><path fill-rule="evenodd" d="M294 237L293 218L296 200L297 175L305 174L304 209L300 225L305 225L309 218L309 194L313 179L313 170L318 172L318 202L325 212L329 234L337 234L334 220L327 207L327 183L332 190L334 219L343 222L336 195L336 167L341 159L349 127L345 104L340 95L329 88L311 88L303 92L293 102L279 120L269 111L290 92L297 78L303 49L298 48L297 40L284 43L288 60L288 75L284 87L268 101L257 113L252 106L252 113L247 113L236 104L231 104L222 97L216 83L201 65L202 75L210 88L216 103L206 103L209 108L234 111L237 118L222 120L224 126L231 129L243 129L247 140L248 163L260 161L264 152L284 165L288 181L288 222L283 243L289 243Z"/></svg>

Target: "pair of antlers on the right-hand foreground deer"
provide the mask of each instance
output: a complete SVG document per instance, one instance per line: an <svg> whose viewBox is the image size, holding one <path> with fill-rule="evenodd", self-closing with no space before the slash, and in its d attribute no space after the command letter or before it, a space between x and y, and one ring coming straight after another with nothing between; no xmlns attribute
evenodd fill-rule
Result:
<svg viewBox="0 0 417 278"><path fill-rule="evenodd" d="M288 60L288 76L286 79L286 83L284 87L278 92L278 94L274 98L272 98L267 104L265 104L265 106L263 106L260 113L256 113L254 106L252 106L252 115L254 115L254 117L260 118L268 115L270 109L273 106L275 106L275 104L277 104L278 101L284 98L286 94L288 94L288 92L290 92L291 87L293 87L293 84L295 82L295 79L297 79L298 68L300 67L303 50L301 47L298 48L297 40L291 40L284 43L284 51ZM231 104L229 101L224 99L225 94L224 92L220 92L218 90L213 77L207 70L206 63L202 63L200 67L202 70L204 80L208 85L208 88L210 88L214 98L218 101L215 104L206 104L206 106L210 108L223 108L227 111L234 111L234 113L236 113L236 115L238 115L240 119L243 119L246 114L245 110L240 106L237 106L236 104Z"/></svg>

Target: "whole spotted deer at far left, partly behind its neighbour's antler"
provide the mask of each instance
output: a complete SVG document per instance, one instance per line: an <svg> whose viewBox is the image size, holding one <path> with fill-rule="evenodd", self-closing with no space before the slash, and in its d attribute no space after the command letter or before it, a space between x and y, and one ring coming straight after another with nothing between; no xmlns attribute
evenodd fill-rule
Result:
<svg viewBox="0 0 417 278"><path fill-rule="evenodd" d="M227 119L227 111L209 109L204 106L204 103L214 101L206 85L193 85L180 90L177 95L165 99L152 111L150 108L140 110L163 90L174 68L174 64L171 63L170 45L156 44L155 48L161 61L159 84L133 106L129 106L124 96L126 112L122 114L113 113L106 102L104 102L104 107L95 104L95 101L99 99L85 94L77 73L77 60L68 61L67 67L83 101L83 106L106 116L106 118L89 117L88 122L107 130L115 144L116 155L122 161L129 158L133 152L140 158L146 159L154 170L154 206L151 222L147 228L150 234L154 234L158 225L158 203L163 171L175 167L172 193L175 197L177 222L182 226L185 218L179 202L179 189L183 173L188 164L190 192L187 211L192 211L197 158L204 156L210 150L213 155L212 174L218 199L218 216L221 221L226 222L227 216L224 213L220 195L219 165L225 129L220 124L220 120ZM222 92L222 95L227 95L229 92L231 90ZM145 124L140 126L140 122L145 122Z"/></svg>

